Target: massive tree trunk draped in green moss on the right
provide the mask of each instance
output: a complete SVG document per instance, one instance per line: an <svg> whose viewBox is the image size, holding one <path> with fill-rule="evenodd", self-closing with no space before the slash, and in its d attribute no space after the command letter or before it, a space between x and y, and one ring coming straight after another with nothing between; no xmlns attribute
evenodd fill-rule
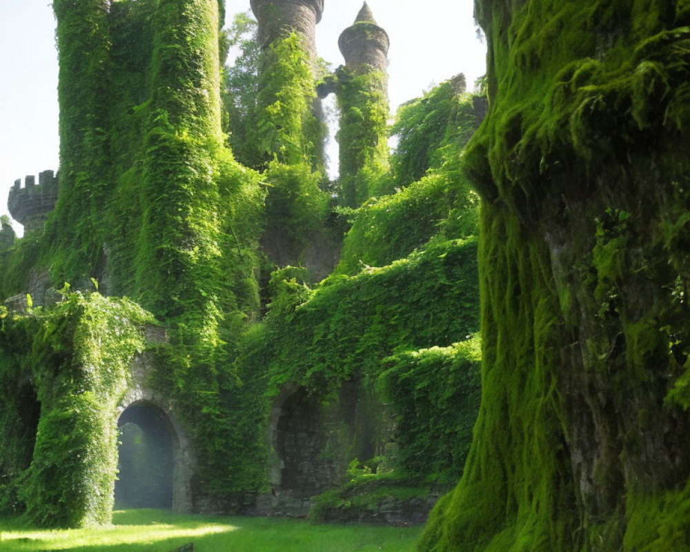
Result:
<svg viewBox="0 0 690 552"><path fill-rule="evenodd" d="M420 550L690 550L690 6L476 14L482 408Z"/></svg>

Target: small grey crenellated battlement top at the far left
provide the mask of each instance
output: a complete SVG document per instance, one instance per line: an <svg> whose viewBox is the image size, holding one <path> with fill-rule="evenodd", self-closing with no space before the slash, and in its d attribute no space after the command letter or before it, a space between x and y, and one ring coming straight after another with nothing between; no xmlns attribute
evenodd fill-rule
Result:
<svg viewBox="0 0 690 552"><path fill-rule="evenodd" d="M26 176L23 183L21 178L15 180L7 201L10 215L25 232L42 230L46 215L55 208L57 189L58 177L52 170L40 172L38 184L34 175Z"/></svg>

